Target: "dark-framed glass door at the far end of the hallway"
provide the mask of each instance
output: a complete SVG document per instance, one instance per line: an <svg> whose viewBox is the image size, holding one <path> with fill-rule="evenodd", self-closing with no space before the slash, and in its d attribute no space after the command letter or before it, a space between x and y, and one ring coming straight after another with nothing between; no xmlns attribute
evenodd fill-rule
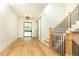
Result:
<svg viewBox="0 0 79 59"><path fill-rule="evenodd" d="M24 22L23 28L23 36L32 37L32 22Z"/></svg>

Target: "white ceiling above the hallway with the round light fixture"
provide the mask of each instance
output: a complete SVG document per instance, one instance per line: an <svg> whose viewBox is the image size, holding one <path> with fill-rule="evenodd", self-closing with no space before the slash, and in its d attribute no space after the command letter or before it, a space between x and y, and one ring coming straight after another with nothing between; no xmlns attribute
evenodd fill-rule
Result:
<svg viewBox="0 0 79 59"><path fill-rule="evenodd" d="M9 4L9 6L15 10L18 16L25 17L26 15L30 15L34 18L37 18L47 5L47 3Z"/></svg>

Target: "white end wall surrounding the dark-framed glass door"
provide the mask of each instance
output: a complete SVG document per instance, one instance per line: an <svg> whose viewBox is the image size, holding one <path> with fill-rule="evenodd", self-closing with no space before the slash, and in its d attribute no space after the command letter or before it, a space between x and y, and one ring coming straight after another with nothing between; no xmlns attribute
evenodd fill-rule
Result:
<svg viewBox="0 0 79 59"><path fill-rule="evenodd" d="M19 37L23 38L23 23L32 22L32 37L37 37L37 23L32 20L26 20L25 18L19 17Z"/></svg>

